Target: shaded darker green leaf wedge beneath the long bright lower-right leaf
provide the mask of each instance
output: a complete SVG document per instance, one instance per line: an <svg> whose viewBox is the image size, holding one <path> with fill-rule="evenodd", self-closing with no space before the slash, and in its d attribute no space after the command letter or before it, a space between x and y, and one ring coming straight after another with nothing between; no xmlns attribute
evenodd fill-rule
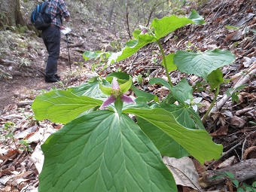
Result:
<svg viewBox="0 0 256 192"><path fill-rule="evenodd" d="M156 145L160 154L167 157L181 158L188 155L187 151L181 147L177 142L170 138L163 130L157 128L152 123L137 117L138 125L149 139Z"/></svg>

